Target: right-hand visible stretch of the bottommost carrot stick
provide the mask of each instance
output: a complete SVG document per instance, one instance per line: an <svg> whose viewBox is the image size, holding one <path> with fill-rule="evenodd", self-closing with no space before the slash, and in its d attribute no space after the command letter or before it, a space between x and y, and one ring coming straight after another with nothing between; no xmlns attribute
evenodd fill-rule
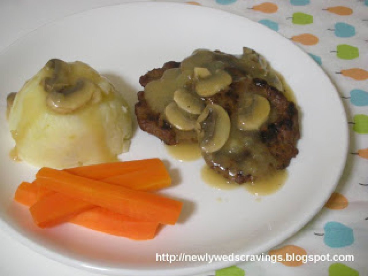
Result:
<svg viewBox="0 0 368 276"><path fill-rule="evenodd" d="M79 213L69 221L89 229L133 240L151 240L155 237L158 227L157 222L132 219L98 206Z"/></svg>

